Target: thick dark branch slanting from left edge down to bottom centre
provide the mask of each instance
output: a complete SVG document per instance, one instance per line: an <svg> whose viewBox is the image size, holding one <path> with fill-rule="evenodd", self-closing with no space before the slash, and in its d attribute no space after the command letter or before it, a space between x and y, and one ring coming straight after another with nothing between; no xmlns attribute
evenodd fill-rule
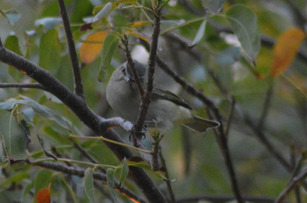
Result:
<svg viewBox="0 0 307 203"><path fill-rule="evenodd" d="M65 105L67 105L94 133L123 143L122 139L114 131L105 129L102 130L100 127L101 118L89 107L87 107L86 103L80 96L77 96L71 92L48 71L15 54L14 52L7 50L3 47L3 45L0 45L0 61L22 70L29 77L40 83L46 91L52 93ZM124 157L130 159L134 156L134 154L128 148L111 143L105 144L115 153L119 160L122 160ZM143 190L145 196L150 202L165 202L164 196L143 169L138 167L130 167L130 175L137 185Z"/></svg>

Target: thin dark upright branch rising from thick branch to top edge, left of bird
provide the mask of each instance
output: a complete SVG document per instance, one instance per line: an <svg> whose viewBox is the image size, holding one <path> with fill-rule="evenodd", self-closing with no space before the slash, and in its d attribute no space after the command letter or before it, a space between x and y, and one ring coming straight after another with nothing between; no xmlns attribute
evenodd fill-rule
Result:
<svg viewBox="0 0 307 203"><path fill-rule="evenodd" d="M74 77L74 89L75 89L74 92L76 95L84 99L84 91L83 91L83 84L82 84L82 79L80 75L79 61L77 57L75 42L72 37L72 30L70 28L70 23L69 23L64 0L58 0L58 4L60 8L60 14L63 19L70 60L72 62L72 72L73 72L73 77Z"/></svg>

